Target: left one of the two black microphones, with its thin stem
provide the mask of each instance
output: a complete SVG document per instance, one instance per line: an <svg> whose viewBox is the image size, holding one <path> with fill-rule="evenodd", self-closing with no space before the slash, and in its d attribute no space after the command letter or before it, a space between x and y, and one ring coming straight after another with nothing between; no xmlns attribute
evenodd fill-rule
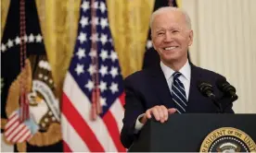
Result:
<svg viewBox="0 0 256 153"><path fill-rule="evenodd" d="M217 106L218 112L223 112L222 105L216 100L216 96L213 94L213 88L211 84L198 81L198 89L205 97L209 97L211 101Z"/></svg>

